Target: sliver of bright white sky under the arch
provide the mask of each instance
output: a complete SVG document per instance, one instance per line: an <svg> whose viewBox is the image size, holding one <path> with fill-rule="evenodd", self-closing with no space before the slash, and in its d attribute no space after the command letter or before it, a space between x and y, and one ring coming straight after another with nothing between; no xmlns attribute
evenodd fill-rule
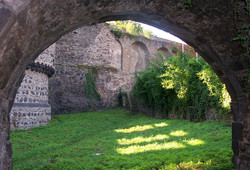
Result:
<svg viewBox="0 0 250 170"><path fill-rule="evenodd" d="M147 25L147 24L143 24L143 23L140 23L141 26L146 29L146 30L150 30L151 32L153 32L153 34L159 38L164 38L164 39L167 39L167 40L172 40L172 41L176 41L176 42L179 42L179 43L183 43L183 44L186 44L184 41L182 41L181 39L179 39L178 37L175 37L174 35L168 33L168 32L165 32L165 31L162 31L158 28L155 28L155 27L152 27L150 25Z"/></svg>

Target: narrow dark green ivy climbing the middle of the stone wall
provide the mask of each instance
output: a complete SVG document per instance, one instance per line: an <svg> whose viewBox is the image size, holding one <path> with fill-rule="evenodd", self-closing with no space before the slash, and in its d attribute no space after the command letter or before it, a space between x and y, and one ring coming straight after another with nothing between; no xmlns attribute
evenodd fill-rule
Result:
<svg viewBox="0 0 250 170"><path fill-rule="evenodd" d="M100 94L96 90L96 79L93 75L93 72L96 72L94 69L89 69L85 74L86 82L83 82L84 90L86 96L90 100L90 110L95 110L95 101L100 100Z"/></svg>

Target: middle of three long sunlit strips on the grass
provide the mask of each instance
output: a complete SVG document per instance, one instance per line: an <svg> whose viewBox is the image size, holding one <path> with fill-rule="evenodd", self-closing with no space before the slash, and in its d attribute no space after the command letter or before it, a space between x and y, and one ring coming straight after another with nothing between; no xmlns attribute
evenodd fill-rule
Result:
<svg viewBox="0 0 250 170"><path fill-rule="evenodd" d="M132 139L118 139L118 143L120 145L130 145L130 144L136 144L136 143L143 143L143 142L151 142L151 141L156 141L156 140L163 140L163 139L168 139L169 136L167 135L156 135L156 136L151 136L151 137L136 137Z"/></svg>

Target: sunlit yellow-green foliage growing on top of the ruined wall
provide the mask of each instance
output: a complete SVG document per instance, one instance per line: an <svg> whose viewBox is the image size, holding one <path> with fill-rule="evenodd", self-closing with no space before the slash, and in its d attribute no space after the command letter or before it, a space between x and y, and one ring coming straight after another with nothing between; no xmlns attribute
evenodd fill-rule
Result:
<svg viewBox="0 0 250 170"><path fill-rule="evenodd" d="M144 36L151 38L153 33L151 31L145 30L140 23L134 21L113 21L109 24L115 25L117 28L112 28L111 32L115 34L118 38L122 36L123 31L134 35L134 36Z"/></svg>

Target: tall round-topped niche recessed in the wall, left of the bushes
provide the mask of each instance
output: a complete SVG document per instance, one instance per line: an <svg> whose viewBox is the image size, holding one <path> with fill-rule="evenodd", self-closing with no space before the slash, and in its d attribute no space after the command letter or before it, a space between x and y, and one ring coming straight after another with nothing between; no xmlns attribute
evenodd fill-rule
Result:
<svg viewBox="0 0 250 170"><path fill-rule="evenodd" d="M136 41L132 44L132 48L135 51L135 56L137 58L135 64L135 71L141 71L146 68L146 63L149 61L149 51L147 46L140 41Z"/></svg>

